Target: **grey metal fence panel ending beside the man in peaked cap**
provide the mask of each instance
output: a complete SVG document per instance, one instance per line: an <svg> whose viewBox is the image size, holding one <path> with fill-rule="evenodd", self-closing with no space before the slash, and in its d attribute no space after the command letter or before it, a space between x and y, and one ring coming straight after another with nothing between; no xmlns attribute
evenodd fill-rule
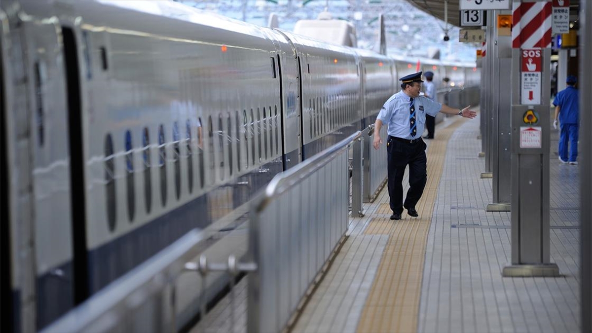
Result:
<svg viewBox="0 0 592 333"><path fill-rule="evenodd" d="M276 175L250 209L247 331L279 332L320 278L349 223L349 146L353 145L352 214L361 207L362 137L369 126L293 169ZM356 184L357 183L357 184ZM359 208L361 212L361 208Z"/></svg>

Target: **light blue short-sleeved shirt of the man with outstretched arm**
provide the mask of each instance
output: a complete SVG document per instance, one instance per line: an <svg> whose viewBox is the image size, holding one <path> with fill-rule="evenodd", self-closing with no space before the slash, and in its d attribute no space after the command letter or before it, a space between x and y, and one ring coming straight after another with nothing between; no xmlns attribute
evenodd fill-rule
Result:
<svg viewBox="0 0 592 333"><path fill-rule="evenodd" d="M410 133L410 97L403 91L397 92L387 100L378 113L377 119L382 124L388 125L387 133L390 136L401 137L402 139L417 139L423 135L426 125L426 114L436 116L442 110L442 104L432 101L427 97L419 96L413 99L416 110L417 132L412 137Z"/></svg>

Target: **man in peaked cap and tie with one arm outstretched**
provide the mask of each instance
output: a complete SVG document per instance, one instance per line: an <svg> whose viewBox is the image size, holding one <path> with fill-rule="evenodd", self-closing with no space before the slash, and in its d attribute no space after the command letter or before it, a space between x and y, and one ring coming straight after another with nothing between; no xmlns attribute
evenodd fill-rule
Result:
<svg viewBox="0 0 592 333"><path fill-rule="evenodd" d="M422 197L427 180L426 144L422 140L426 115L436 116L438 112L458 114L465 118L477 116L475 111L465 107L462 110L437 103L420 96L422 72L399 79L401 91L392 95L378 114L372 145L378 149L382 145L380 130L382 124L388 126L388 195L392 210L391 220L400 220L403 208L409 216L417 217L415 208ZM403 203L403 174L409 165L409 190Z"/></svg>

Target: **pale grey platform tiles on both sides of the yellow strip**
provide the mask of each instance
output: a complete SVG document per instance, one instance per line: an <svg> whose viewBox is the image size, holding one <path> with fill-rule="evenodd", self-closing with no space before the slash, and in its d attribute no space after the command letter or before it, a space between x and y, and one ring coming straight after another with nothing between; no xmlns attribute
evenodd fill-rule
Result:
<svg viewBox="0 0 592 333"><path fill-rule="evenodd" d="M451 124L446 120L436 129ZM417 331L580 331L578 167L559 164L557 133L551 137L551 260L558 278L504 278L510 262L510 213L485 212L491 179L481 179L484 159L478 118L466 121L448 142L427 235ZM428 142L429 145L429 142ZM428 147L428 159L430 158ZM406 180L404 180L405 182ZM405 189L406 190L406 189ZM386 188L365 217L350 219L349 238L301 313L294 332L355 332L374 283L388 235L368 235L372 218L388 203ZM392 222L396 223L396 222ZM233 331L246 331L246 279L237 290ZM192 331L229 331L223 300Z"/></svg>

